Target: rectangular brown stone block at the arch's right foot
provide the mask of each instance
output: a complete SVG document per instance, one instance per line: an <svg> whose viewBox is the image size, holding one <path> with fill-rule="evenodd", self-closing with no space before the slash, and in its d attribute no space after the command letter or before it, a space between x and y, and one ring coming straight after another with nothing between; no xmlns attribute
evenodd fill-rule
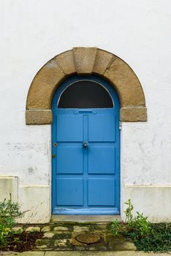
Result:
<svg viewBox="0 0 171 256"><path fill-rule="evenodd" d="M120 110L120 120L125 122L147 121L147 108L143 106L123 107Z"/></svg>

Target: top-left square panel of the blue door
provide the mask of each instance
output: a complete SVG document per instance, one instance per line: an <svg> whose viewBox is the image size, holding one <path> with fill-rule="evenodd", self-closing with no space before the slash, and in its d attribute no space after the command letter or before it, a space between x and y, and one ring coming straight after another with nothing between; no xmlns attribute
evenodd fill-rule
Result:
<svg viewBox="0 0 171 256"><path fill-rule="evenodd" d="M58 142L83 141L83 116L59 114L57 127Z"/></svg>

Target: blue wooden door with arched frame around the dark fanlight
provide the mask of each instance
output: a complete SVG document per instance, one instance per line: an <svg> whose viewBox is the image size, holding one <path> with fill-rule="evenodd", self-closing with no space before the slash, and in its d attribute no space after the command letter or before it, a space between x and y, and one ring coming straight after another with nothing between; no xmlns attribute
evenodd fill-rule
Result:
<svg viewBox="0 0 171 256"><path fill-rule="evenodd" d="M107 90L113 108L58 108L67 86L88 79ZM53 214L119 214L119 101L106 81L66 80L53 97Z"/></svg>

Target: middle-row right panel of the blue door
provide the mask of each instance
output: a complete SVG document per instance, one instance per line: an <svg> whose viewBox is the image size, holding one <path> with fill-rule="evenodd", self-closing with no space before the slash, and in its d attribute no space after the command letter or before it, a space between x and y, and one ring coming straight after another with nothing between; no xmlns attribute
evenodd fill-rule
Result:
<svg viewBox="0 0 171 256"><path fill-rule="evenodd" d="M114 146L89 146L88 156L88 173L115 173Z"/></svg>

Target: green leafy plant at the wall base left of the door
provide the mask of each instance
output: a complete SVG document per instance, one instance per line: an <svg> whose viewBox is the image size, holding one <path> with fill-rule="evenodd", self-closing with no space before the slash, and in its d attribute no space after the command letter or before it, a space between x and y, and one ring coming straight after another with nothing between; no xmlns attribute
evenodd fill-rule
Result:
<svg viewBox="0 0 171 256"><path fill-rule="evenodd" d="M12 227L16 225L15 218L22 217L18 203L12 202L11 194L9 200L0 202L0 245L7 245L8 238L12 234Z"/></svg>

